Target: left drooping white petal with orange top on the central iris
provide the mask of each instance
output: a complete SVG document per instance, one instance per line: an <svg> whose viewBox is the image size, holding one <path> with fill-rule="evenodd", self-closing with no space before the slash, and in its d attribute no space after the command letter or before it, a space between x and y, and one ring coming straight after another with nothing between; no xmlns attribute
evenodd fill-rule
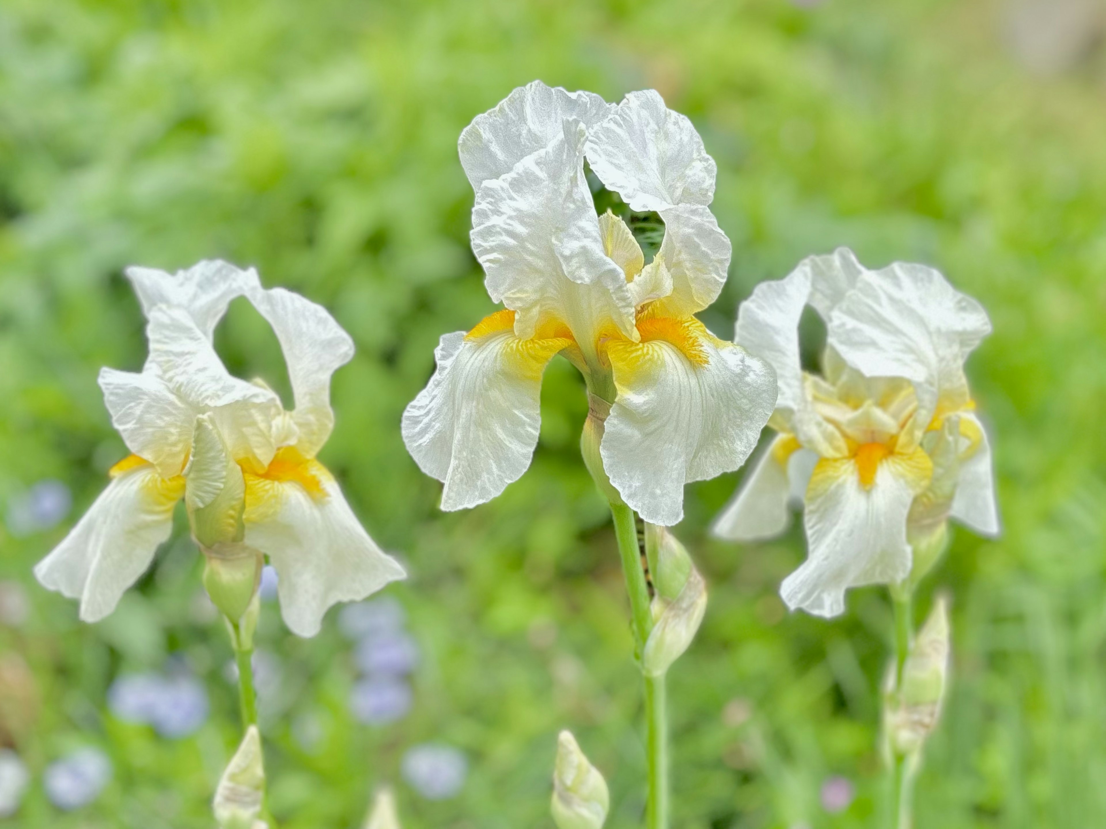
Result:
<svg viewBox="0 0 1106 829"><path fill-rule="evenodd" d="M514 313L441 337L438 368L404 412L407 451L445 482L442 510L490 501L530 466L541 424L542 372L570 338L520 339Z"/></svg>

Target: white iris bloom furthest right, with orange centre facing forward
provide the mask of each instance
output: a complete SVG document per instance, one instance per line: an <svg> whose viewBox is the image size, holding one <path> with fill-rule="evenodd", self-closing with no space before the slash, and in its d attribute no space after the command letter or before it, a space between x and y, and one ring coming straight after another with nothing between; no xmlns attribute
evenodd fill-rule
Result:
<svg viewBox="0 0 1106 829"><path fill-rule="evenodd" d="M827 329L821 376L800 367L807 304ZM775 368L779 434L716 534L776 535L792 494L802 499L808 556L781 594L818 616L841 613L849 587L906 579L911 553L943 541L949 517L997 534L991 450L963 372L990 330L982 306L931 267L869 271L845 249L758 285L735 340Z"/></svg>

